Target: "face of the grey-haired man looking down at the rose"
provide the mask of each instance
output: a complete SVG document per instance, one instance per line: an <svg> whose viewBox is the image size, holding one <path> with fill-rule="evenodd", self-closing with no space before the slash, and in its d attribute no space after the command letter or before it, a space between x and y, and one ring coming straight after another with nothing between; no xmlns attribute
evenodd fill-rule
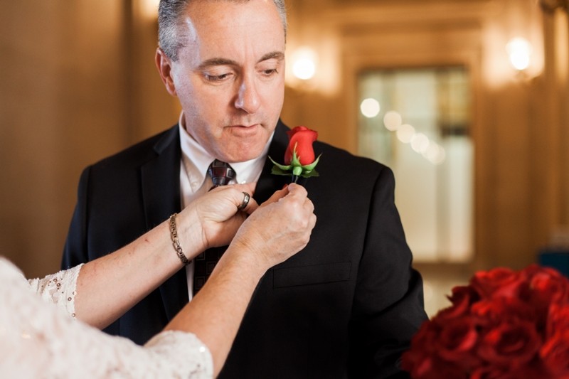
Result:
<svg viewBox="0 0 569 379"><path fill-rule="evenodd" d="M188 133L227 162L254 159L285 93L285 31L271 0L194 1L171 80Z"/></svg>

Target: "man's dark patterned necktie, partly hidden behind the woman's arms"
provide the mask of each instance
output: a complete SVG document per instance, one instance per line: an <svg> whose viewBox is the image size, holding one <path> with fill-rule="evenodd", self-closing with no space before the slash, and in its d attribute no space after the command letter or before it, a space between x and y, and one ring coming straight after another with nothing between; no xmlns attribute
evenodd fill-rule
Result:
<svg viewBox="0 0 569 379"><path fill-rule="evenodd" d="M225 186L232 179L235 178L235 171L225 162L218 161L217 159L211 163L208 168L208 175L211 176L213 187L211 189ZM211 191L210 189L210 191ZM216 267L221 255L225 252L225 248L213 248L202 252L193 260L193 294L196 295L198 291L206 284L206 280L213 272L213 267Z"/></svg>

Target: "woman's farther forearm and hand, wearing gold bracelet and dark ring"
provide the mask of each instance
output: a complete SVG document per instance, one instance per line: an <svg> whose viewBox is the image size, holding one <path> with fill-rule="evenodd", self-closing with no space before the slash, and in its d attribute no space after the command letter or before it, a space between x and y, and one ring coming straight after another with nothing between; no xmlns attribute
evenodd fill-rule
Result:
<svg viewBox="0 0 569 379"><path fill-rule="evenodd" d="M243 212L237 205L255 183L224 186L193 201L176 217L180 245L191 260L208 247L228 245L240 225L257 208L251 198ZM159 287L182 265L166 220L129 245L86 263L80 269L75 315L105 328Z"/></svg>

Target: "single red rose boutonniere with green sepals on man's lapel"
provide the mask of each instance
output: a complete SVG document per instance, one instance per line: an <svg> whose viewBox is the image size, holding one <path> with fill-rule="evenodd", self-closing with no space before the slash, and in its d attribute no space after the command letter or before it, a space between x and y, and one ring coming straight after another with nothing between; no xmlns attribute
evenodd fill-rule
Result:
<svg viewBox="0 0 569 379"><path fill-rule="evenodd" d="M277 164L271 157L269 159L275 166L272 167L272 174L290 175L292 181L297 182L299 176L310 178L318 176L314 167L318 164L320 156L314 159L314 148L312 142L318 138L318 132L307 127L295 127L287 132L289 135L289 146L285 151L285 164Z"/></svg>

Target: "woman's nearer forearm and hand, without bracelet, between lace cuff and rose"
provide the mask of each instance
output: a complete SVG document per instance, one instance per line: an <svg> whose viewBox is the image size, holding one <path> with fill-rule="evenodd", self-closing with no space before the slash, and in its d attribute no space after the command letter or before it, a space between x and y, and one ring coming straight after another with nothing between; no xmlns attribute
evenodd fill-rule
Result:
<svg viewBox="0 0 569 379"><path fill-rule="evenodd" d="M225 363L260 278L307 245L316 223L313 211L302 186L277 191L243 223L206 285L166 326L206 343L214 375Z"/></svg>

